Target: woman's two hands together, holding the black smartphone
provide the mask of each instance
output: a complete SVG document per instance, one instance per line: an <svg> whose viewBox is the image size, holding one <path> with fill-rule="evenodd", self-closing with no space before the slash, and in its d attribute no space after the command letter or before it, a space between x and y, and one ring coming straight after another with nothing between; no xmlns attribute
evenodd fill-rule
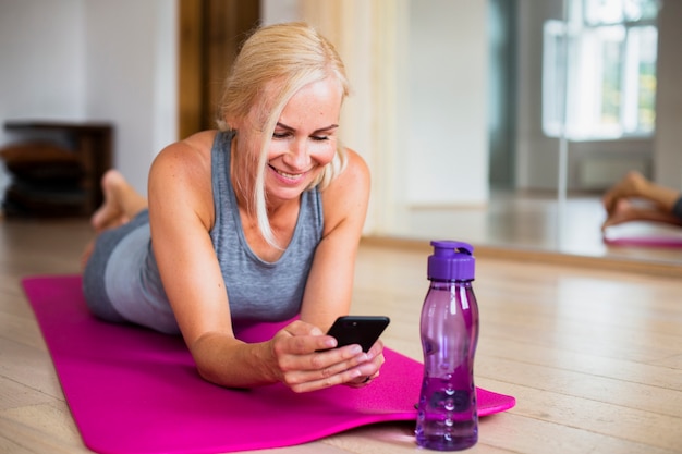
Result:
<svg viewBox="0 0 682 454"><path fill-rule="evenodd" d="M297 393L337 384L365 386L385 361L381 341L367 353L360 345L334 348L336 339L301 320L279 331L270 345L276 379Z"/></svg>

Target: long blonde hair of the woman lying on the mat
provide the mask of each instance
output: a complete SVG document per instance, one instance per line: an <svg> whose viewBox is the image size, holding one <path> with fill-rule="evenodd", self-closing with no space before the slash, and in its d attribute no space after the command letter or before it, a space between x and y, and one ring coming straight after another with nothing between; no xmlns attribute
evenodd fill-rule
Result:
<svg viewBox="0 0 682 454"><path fill-rule="evenodd" d="M247 169L243 176L235 176L234 184L241 191L253 185L246 209L255 211L260 233L275 247L279 245L268 219L265 194L265 170L272 133L282 110L296 91L329 77L339 82L342 99L345 98L350 85L334 47L307 24L295 22L256 29L244 41L226 81L219 107L219 128L231 130L231 121L245 118L253 109L256 109L260 123L256 125L263 133L260 152L257 157L239 157L244 165L253 169L255 181L249 179ZM236 134L239 137L239 131ZM331 162L325 165L308 189L327 187L345 164L345 151L339 145Z"/></svg>

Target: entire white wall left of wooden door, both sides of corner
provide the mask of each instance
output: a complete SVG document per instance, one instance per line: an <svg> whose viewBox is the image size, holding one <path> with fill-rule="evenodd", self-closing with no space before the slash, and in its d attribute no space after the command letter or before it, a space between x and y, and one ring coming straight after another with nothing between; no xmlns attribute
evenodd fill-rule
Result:
<svg viewBox="0 0 682 454"><path fill-rule="evenodd" d="M175 14L174 0L0 0L0 122L111 122L114 167L146 193L176 137Z"/></svg>

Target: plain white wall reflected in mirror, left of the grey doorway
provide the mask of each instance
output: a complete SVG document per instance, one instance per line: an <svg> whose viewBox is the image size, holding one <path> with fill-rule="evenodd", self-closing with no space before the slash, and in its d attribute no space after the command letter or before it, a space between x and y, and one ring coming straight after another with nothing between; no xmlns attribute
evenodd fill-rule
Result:
<svg viewBox="0 0 682 454"><path fill-rule="evenodd" d="M485 204L487 2L413 0L409 24L407 203Z"/></svg>

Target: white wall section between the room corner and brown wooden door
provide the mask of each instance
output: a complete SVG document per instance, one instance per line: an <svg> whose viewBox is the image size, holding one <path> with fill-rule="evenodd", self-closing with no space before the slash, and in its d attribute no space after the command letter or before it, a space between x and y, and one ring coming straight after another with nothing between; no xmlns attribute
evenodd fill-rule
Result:
<svg viewBox="0 0 682 454"><path fill-rule="evenodd" d="M176 8L86 1L88 118L115 125L114 167L146 194L154 157L176 139Z"/></svg>

